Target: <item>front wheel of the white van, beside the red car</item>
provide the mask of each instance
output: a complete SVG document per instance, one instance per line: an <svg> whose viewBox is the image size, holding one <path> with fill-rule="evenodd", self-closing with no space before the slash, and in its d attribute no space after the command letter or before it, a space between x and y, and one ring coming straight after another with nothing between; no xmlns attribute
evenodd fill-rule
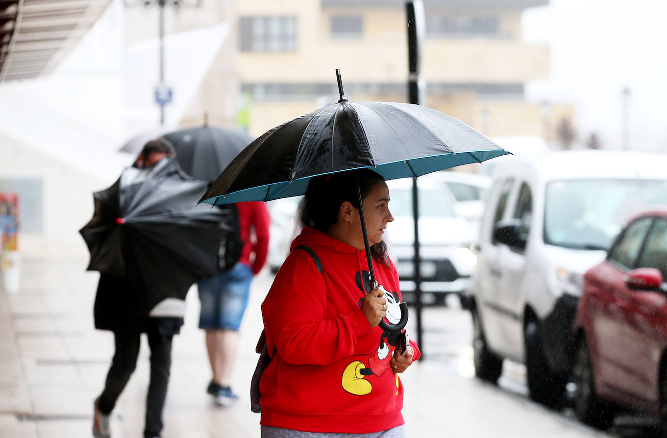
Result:
<svg viewBox="0 0 667 438"><path fill-rule="evenodd" d="M524 328L526 347L526 378L530 398L542 405L559 409L565 394L566 377L549 369L540 339L540 326L529 319Z"/></svg>

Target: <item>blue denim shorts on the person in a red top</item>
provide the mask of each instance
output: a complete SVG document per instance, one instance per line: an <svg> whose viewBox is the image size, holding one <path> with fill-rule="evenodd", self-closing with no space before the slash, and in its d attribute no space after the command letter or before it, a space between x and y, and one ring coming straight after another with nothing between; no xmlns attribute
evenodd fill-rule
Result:
<svg viewBox="0 0 667 438"><path fill-rule="evenodd" d="M248 305L251 280L251 267L236 263L227 271L199 281L199 328L238 331Z"/></svg>

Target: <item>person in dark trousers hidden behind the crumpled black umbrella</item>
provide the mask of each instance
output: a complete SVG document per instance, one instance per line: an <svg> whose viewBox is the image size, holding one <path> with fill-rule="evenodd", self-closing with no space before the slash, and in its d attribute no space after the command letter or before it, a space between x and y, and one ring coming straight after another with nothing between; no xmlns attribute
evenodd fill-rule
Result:
<svg viewBox="0 0 667 438"><path fill-rule="evenodd" d="M146 169L166 157L175 155L165 139L145 144L135 166ZM146 399L145 438L159 438L162 431L162 411L167 397L171 367L171 340L183 325L185 302L170 299L158 303L148 316L139 315L137 297L143 291L123 277L101 274L95 296L95 328L113 331L115 353L104 389L93 405L93 436L110 438L109 415L127 385L137 365L141 333L146 333L151 349L151 377ZM175 303L181 301L181 303Z"/></svg>

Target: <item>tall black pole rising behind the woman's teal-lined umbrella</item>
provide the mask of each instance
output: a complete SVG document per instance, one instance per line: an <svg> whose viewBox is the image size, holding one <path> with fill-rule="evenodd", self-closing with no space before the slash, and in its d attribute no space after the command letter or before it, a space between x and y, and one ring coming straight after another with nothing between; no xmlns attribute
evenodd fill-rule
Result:
<svg viewBox="0 0 667 438"><path fill-rule="evenodd" d="M420 83L419 73L422 63L422 41L424 33L424 4L422 0L406 1L408 15L408 99L410 103L422 105L424 90ZM414 219L414 283L415 301L417 307L417 343L424 356L426 350L422 330L422 274L420 273L420 243L419 243L419 197L417 189L417 175L412 180L412 212Z"/></svg>

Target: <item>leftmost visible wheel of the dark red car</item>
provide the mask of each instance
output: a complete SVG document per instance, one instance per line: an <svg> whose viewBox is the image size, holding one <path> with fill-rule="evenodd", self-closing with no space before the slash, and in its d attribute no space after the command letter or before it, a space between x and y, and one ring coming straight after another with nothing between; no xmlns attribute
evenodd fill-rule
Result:
<svg viewBox="0 0 667 438"><path fill-rule="evenodd" d="M598 398L590 353L584 339L580 339L577 344L572 377L576 384L574 411L577 418L598 429L607 429L614 420L614 409L610 403Z"/></svg>

